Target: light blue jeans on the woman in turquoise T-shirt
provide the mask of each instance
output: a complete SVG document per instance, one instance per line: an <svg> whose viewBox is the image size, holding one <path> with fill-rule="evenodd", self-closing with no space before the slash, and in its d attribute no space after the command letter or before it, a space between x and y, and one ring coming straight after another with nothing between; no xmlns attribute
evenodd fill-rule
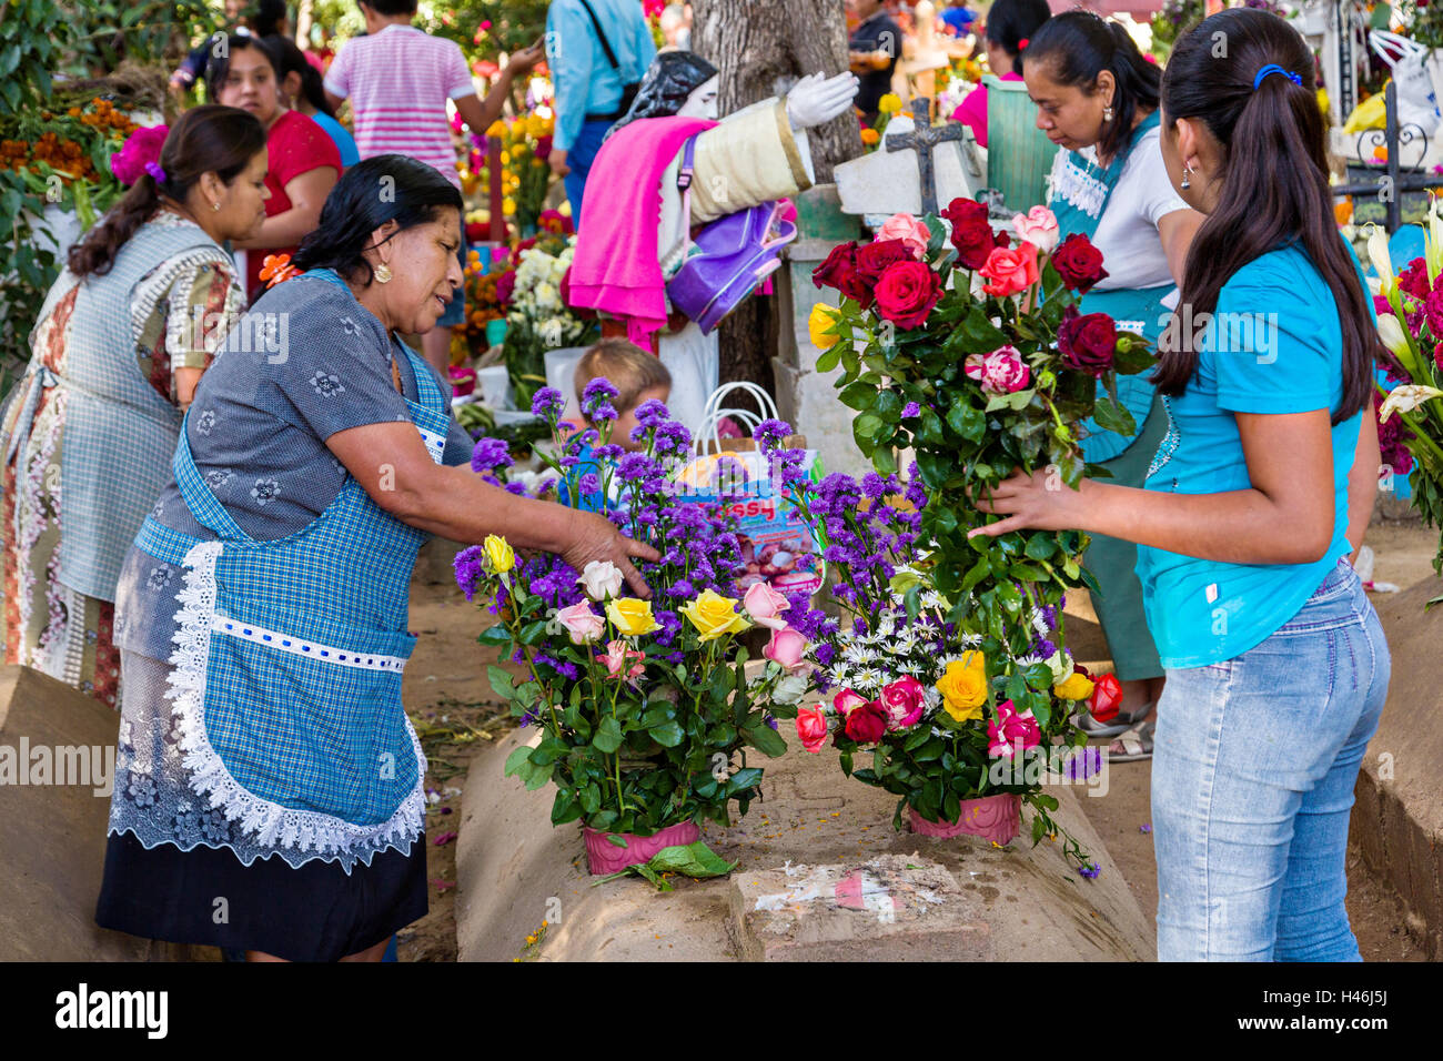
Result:
<svg viewBox="0 0 1443 1061"><path fill-rule="evenodd" d="M1391 658L1346 560L1242 655L1169 670L1153 748L1160 961L1361 961L1343 896Z"/></svg>

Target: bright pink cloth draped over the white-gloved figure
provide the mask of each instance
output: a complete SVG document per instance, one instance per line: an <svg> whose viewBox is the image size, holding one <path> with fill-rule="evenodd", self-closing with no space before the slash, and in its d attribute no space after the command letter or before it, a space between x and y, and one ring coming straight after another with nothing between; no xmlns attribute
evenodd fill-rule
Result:
<svg viewBox="0 0 1443 1061"><path fill-rule="evenodd" d="M661 178L707 118L639 118L602 144L586 178L571 258L571 306L626 320L626 338L652 349L667 323L667 281L657 261ZM690 224L690 222L688 222Z"/></svg>

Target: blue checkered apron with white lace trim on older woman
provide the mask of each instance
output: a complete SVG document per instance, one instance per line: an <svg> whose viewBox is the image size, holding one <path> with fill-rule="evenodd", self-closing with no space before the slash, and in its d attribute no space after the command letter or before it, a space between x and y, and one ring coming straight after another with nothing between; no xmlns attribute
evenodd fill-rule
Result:
<svg viewBox="0 0 1443 1061"><path fill-rule="evenodd" d="M440 462L447 401L410 349L407 401ZM427 534L381 510L351 476L307 527L245 534L205 484L180 432L175 476L205 541L147 518L136 544L185 569L176 712L192 787L263 844L364 853L421 830L426 759L401 707L416 553ZM189 697L189 699L188 699ZM193 716L192 716L193 717Z"/></svg>

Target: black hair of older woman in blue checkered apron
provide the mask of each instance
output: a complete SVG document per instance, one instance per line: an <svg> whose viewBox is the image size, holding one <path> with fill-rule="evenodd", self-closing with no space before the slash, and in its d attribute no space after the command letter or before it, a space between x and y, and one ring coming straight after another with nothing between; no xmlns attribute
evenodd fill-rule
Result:
<svg viewBox="0 0 1443 1061"><path fill-rule="evenodd" d="M296 251L297 268L333 268L346 280L371 264L361 251L387 221L401 230L436 219L442 209L463 211L460 191L440 170L404 154L377 154L351 166L320 208L320 224Z"/></svg>

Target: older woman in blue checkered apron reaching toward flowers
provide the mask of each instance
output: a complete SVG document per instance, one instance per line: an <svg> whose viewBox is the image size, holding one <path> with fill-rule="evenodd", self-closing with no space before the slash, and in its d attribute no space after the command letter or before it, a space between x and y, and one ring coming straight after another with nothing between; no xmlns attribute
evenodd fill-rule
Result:
<svg viewBox="0 0 1443 1061"><path fill-rule="evenodd" d="M124 703L97 921L253 960L380 960L427 908L426 759L401 706L427 533L577 567L655 557L489 486L397 333L460 283L460 193L368 159L202 381L117 590Z"/></svg>

